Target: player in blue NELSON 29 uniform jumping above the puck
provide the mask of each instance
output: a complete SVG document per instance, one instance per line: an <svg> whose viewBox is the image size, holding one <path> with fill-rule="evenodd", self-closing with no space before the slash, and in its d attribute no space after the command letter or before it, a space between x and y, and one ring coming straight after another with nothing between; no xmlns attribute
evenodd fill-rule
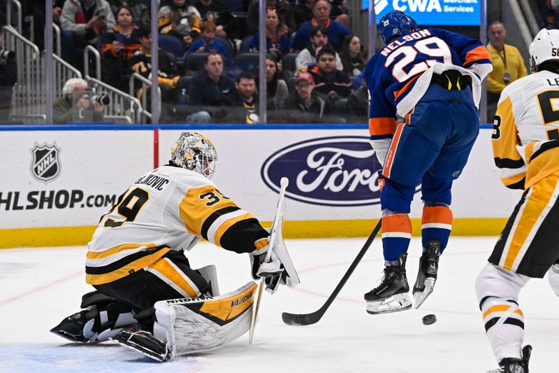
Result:
<svg viewBox="0 0 559 373"><path fill-rule="evenodd" d="M378 285L365 294L370 314L412 307L405 272L412 236L408 214L420 183L423 254L413 288L415 307L433 291L452 227L452 182L479 133L481 80L493 69L481 41L442 29L419 29L399 10L381 18L379 32L386 46L364 71L370 142L383 164L379 185L385 268Z"/></svg>

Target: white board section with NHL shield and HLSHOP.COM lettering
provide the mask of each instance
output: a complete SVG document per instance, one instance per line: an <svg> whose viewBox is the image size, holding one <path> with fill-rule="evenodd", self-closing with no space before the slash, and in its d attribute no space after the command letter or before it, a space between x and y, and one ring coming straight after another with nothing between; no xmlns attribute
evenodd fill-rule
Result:
<svg viewBox="0 0 559 373"><path fill-rule="evenodd" d="M146 155L122 146L140 139ZM1 145L3 229L96 225L153 164L151 136L129 131L3 132Z"/></svg>

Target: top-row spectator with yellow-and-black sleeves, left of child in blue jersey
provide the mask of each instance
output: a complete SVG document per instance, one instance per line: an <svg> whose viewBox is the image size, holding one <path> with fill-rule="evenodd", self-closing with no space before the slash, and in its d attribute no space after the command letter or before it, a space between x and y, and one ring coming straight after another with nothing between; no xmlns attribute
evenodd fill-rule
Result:
<svg viewBox="0 0 559 373"><path fill-rule="evenodd" d="M159 34L176 36L188 49L200 35L200 20L200 12L187 0L171 0L159 9Z"/></svg>

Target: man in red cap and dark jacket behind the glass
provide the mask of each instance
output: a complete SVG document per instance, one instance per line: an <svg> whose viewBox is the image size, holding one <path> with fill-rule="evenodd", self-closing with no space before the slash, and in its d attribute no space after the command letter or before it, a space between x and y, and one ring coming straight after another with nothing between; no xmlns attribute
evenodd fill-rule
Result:
<svg viewBox="0 0 559 373"><path fill-rule="evenodd" d="M295 79L295 94L281 106L282 112L276 122L329 122L334 105L321 94L314 92L314 80L310 73L300 73Z"/></svg>

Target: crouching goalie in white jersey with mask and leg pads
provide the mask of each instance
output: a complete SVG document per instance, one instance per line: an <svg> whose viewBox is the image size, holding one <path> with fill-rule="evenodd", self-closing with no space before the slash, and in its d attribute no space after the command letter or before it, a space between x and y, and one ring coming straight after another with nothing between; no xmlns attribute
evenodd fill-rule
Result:
<svg viewBox="0 0 559 373"><path fill-rule="evenodd" d="M96 291L51 332L72 342L113 339L159 361L239 337L256 283L219 295L215 267L193 269L184 255L201 238L249 253L253 278L266 278L270 293L298 283L282 239L269 245L259 220L210 180L216 162L208 139L183 132L170 162L127 188L87 245L85 280Z"/></svg>

